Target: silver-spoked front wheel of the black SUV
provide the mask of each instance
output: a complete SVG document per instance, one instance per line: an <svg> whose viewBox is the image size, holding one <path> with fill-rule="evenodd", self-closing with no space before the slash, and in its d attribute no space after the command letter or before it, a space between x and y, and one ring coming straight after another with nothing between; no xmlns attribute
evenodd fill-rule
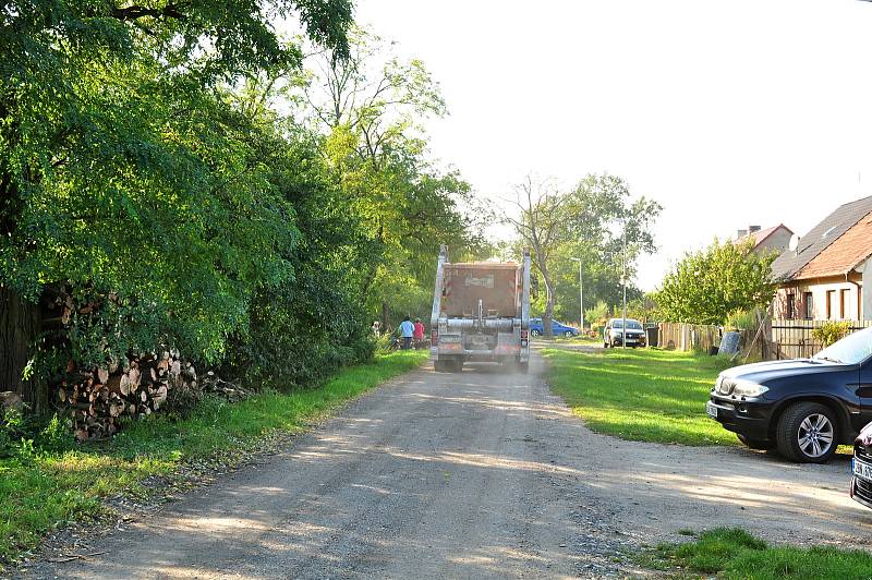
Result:
<svg viewBox="0 0 872 580"><path fill-rule="evenodd" d="M828 407L791 404L778 420L778 452L800 463L824 463L836 452L838 422Z"/></svg>

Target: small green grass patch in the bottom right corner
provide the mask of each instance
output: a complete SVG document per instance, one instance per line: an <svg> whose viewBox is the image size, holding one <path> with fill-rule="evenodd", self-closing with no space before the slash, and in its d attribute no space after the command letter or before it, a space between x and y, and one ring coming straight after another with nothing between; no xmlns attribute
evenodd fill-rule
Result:
<svg viewBox="0 0 872 580"><path fill-rule="evenodd" d="M718 578L872 578L872 555L834 547L770 546L740 529L703 532L687 544L663 544L639 558L659 570Z"/></svg>

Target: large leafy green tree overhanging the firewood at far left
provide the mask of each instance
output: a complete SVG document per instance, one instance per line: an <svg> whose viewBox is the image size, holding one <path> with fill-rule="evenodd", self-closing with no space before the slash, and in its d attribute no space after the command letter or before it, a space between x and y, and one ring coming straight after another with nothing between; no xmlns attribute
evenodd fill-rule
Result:
<svg viewBox="0 0 872 580"><path fill-rule="evenodd" d="M4 351L26 352L38 330L12 309L63 293L87 306L73 309L62 358L94 364L164 342L214 361L254 292L293 276L293 207L223 88L299 65L270 25L286 16L348 55L346 0L4 4ZM0 379L14 386L20 370L4 359Z"/></svg>

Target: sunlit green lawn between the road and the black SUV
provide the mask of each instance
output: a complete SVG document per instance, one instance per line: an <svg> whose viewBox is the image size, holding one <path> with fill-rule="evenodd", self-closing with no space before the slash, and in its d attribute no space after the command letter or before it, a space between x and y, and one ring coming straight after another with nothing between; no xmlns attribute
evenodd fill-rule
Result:
<svg viewBox="0 0 872 580"><path fill-rule="evenodd" d="M717 374L729 362L701 354L640 349L579 352L545 349L548 382L597 433L685 445L737 445L705 414Z"/></svg>

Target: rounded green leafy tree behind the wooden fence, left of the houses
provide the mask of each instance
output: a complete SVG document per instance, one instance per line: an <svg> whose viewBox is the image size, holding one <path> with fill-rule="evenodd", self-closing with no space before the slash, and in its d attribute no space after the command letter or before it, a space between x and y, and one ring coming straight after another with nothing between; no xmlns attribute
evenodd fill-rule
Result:
<svg viewBox="0 0 872 580"><path fill-rule="evenodd" d="M669 322L724 324L735 312L765 309L775 293L773 259L775 254L755 253L750 242L715 240L689 252L656 292L658 314Z"/></svg>

